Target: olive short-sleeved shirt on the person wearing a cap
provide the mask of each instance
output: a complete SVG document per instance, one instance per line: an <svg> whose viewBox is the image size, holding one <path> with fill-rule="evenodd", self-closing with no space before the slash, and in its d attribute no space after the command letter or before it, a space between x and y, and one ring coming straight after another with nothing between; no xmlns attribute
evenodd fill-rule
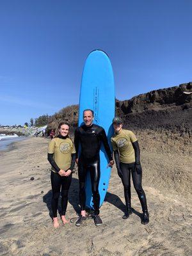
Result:
<svg viewBox="0 0 192 256"><path fill-rule="evenodd" d="M135 162L135 154L132 143L137 140L138 139L132 131L124 129L111 137L113 150L118 150L120 162L126 164Z"/></svg>

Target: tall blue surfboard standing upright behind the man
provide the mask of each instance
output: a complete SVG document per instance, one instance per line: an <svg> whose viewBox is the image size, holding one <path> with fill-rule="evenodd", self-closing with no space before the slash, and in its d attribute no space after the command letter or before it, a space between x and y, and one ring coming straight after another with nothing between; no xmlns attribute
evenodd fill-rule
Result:
<svg viewBox="0 0 192 256"><path fill-rule="evenodd" d="M115 85L111 61L108 55L100 50L90 52L84 65L79 97L79 126L83 123L84 109L94 111L93 123L104 128L111 147L110 138L113 135L111 123L115 116ZM111 174L111 168L107 166L108 157L102 145L100 149L100 205L106 196ZM89 172L86 177L86 206L93 209Z"/></svg>

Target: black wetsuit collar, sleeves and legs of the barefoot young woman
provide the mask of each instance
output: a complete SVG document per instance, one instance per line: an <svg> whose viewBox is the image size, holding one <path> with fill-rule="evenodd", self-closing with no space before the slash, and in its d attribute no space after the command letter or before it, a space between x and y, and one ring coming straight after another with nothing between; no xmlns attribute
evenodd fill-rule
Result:
<svg viewBox="0 0 192 256"><path fill-rule="evenodd" d="M65 140L67 138L64 136L59 135L58 138ZM58 210L58 199L60 196L60 189L61 189L61 215L65 215L68 203L68 189L70 188L70 184L72 181L72 173L68 176L61 176L58 172L60 172L60 168L56 164L53 159L54 154L47 155L47 159L51 166L54 168L55 172L51 172L51 186L52 186L52 199L51 199L51 207L52 207L52 214L53 218L57 216ZM74 165L76 162L76 154L72 154L72 161L69 170L74 169Z"/></svg>

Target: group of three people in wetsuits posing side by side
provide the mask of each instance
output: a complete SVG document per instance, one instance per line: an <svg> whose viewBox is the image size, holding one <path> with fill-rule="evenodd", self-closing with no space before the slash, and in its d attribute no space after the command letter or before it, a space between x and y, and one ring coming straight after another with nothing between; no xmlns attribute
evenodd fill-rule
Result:
<svg viewBox="0 0 192 256"><path fill-rule="evenodd" d="M103 143L108 156L108 166L113 167L113 155L109 147L106 132L99 125L93 124L94 113L92 109L83 111L84 124L77 127L74 136L74 143L68 135L69 124L60 123L54 138L49 142L48 160L51 164L51 186L52 186L52 214L53 225L59 227L57 218L58 198L61 191L61 221L63 224L68 223L65 212L68 203L68 189L72 181L72 171L75 163L78 165L79 176L79 204L81 206L81 214L77 218L76 226L79 227L86 221L86 175L90 172L92 184L93 207L94 212L92 218L96 226L102 225L100 218L100 157L99 151L101 143ZM147 200L145 192L141 186L142 168L140 162L140 147L135 134L132 131L123 129L123 121L120 117L113 118L114 135L111 137L113 152L115 157L116 169L118 176L122 180L124 186L126 211L122 217L124 220L129 218L132 213L131 209L131 175L134 188L140 199L142 207L141 223L147 224L149 221ZM81 147L81 150L79 148ZM80 151L80 155L79 155Z"/></svg>

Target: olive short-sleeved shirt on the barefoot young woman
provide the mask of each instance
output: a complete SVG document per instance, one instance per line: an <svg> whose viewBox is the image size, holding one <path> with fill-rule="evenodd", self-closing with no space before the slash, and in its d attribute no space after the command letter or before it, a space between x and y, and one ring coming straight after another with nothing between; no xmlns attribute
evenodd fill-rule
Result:
<svg viewBox="0 0 192 256"><path fill-rule="evenodd" d="M49 142L48 154L54 154L53 159L61 170L67 171L72 161L71 154L75 154L74 143L70 138L65 140L54 138ZM52 172L56 172L51 168Z"/></svg>

